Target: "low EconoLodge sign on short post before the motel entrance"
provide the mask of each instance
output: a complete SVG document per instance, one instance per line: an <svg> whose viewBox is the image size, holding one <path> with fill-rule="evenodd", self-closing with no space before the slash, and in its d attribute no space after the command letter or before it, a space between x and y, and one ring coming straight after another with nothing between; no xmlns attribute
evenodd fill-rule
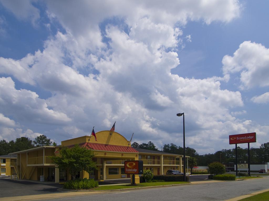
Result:
<svg viewBox="0 0 269 201"><path fill-rule="evenodd" d="M124 161L124 173L133 175L133 185L135 185L135 174L143 174L143 161Z"/></svg>

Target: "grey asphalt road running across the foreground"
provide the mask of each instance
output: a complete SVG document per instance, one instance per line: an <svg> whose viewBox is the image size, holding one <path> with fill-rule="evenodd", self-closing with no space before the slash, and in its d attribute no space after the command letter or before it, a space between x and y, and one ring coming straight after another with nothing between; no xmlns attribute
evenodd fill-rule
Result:
<svg viewBox="0 0 269 201"><path fill-rule="evenodd" d="M207 184L191 184L172 187L114 191L103 194L46 199L47 201L223 201L252 192L269 189L269 177L244 181L225 181ZM269 200L269 198L268 198Z"/></svg>

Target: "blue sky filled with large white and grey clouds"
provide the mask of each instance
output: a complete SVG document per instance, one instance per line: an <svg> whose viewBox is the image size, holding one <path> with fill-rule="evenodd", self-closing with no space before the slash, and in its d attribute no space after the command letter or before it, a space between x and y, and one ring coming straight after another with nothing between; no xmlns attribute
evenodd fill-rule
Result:
<svg viewBox="0 0 269 201"><path fill-rule="evenodd" d="M269 1L0 0L0 140L110 130L199 154L269 142ZM98 138L97 138L98 143ZM247 144L240 144L246 148Z"/></svg>

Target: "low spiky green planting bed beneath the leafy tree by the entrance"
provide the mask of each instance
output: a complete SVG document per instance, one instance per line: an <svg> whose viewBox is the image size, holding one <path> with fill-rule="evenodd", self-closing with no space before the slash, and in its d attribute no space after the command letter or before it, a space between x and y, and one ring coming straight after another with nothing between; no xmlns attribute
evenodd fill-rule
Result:
<svg viewBox="0 0 269 201"><path fill-rule="evenodd" d="M94 187L98 187L98 181L87 178L70 180L63 184L65 189L90 189Z"/></svg>

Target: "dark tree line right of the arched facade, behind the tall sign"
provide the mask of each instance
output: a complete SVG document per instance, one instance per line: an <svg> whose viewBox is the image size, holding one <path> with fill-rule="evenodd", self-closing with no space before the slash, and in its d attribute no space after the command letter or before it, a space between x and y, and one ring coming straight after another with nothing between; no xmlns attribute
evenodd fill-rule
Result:
<svg viewBox="0 0 269 201"><path fill-rule="evenodd" d="M148 150L158 150L152 142L138 144L132 143L132 147L143 148ZM175 144L164 144L163 152L171 154L183 155L183 147L176 146ZM248 161L248 150L247 148L237 147L237 161L238 163L244 163ZM185 147L186 156L190 156L197 159L197 165L207 166L212 162L221 163L235 163L235 148L233 149L222 149L215 152L214 154L199 155L197 151L190 147ZM264 163L269 162L269 142L261 144L259 148L250 148L250 163Z"/></svg>

